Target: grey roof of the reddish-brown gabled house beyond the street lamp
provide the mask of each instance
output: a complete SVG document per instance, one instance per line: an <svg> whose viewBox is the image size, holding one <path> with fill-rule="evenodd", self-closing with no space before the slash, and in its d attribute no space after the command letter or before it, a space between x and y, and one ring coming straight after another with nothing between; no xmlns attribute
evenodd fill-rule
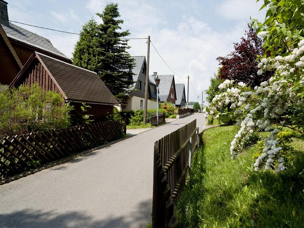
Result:
<svg viewBox="0 0 304 228"><path fill-rule="evenodd" d="M174 79L174 74L165 74L165 75L157 74L157 76L158 78L161 79L158 85L158 90L159 90L158 97L161 99L161 101L166 101L170 93L170 88ZM154 78L155 75L149 75L150 83L154 81ZM175 99L176 99L176 92L175 92Z"/></svg>

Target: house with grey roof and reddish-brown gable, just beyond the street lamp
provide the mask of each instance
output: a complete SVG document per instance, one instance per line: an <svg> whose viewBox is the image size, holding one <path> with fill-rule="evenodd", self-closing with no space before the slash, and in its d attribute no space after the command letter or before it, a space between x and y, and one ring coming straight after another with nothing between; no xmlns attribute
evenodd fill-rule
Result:
<svg viewBox="0 0 304 228"><path fill-rule="evenodd" d="M161 102L172 102L175 105L176 101L176 91L175 91L175 82L174 75L158 75L157 72L154 72L153 75L149 75L150 81L154 81L154 78L158 76L161 79L158 85L158 97Z"/></svg>

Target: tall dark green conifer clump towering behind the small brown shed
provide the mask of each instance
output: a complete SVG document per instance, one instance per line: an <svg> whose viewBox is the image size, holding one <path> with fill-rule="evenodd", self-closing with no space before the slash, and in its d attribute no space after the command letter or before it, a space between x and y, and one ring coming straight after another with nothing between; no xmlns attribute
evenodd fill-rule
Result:
<svg viewBox="0 0 304 228"><path fill-rule="evenodd" d="M133 85L132 69L134 59L128 53L128 40L120 38L129 36L129 30L120 31L123 20L119 19L117 3L105 6L103 12L96 13L103 23L94 19L82 26L79 40L73 53L73 64L96 72L112 94L122 102Z"/></svg>

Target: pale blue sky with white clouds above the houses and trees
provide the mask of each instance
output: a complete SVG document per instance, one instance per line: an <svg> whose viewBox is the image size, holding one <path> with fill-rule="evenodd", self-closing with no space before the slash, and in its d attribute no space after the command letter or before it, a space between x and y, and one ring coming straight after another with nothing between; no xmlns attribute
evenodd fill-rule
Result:
<svg viewBox="0 0 304 228"><path fill-rule="evenodd" d="M82 25L101 13L105 0L6 0L9 20L67 32L79 33ZM150 69L153 74L174 74L175 83L185 83L189 75L189 101L202 102L202 91L209 87L210 77L217 72L216 58L233 51L251 18L263 21L263 1L256 0L120 0L122 29L129 29L130 38L150 36ZM12 22L14 23L14 22ZM15 23L17 24L17 23ZM58 50L72 57L79 36L20 25L48 38ZM146 40L129 40L132 56L147 56ZM199 98L198 98L199 96ZM204 92L204 100L205 100Z"/></svg>

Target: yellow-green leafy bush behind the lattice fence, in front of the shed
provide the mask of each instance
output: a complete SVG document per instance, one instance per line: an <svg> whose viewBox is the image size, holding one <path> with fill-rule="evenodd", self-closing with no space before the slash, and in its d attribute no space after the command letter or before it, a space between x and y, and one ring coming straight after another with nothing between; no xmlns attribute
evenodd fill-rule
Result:
<svg viewBox="0 0 304 228"><path fill-rule="evenodd" d="M0 91L0 137L70 126L74 107L63 103L61 94L38 84Z"/></svg>

